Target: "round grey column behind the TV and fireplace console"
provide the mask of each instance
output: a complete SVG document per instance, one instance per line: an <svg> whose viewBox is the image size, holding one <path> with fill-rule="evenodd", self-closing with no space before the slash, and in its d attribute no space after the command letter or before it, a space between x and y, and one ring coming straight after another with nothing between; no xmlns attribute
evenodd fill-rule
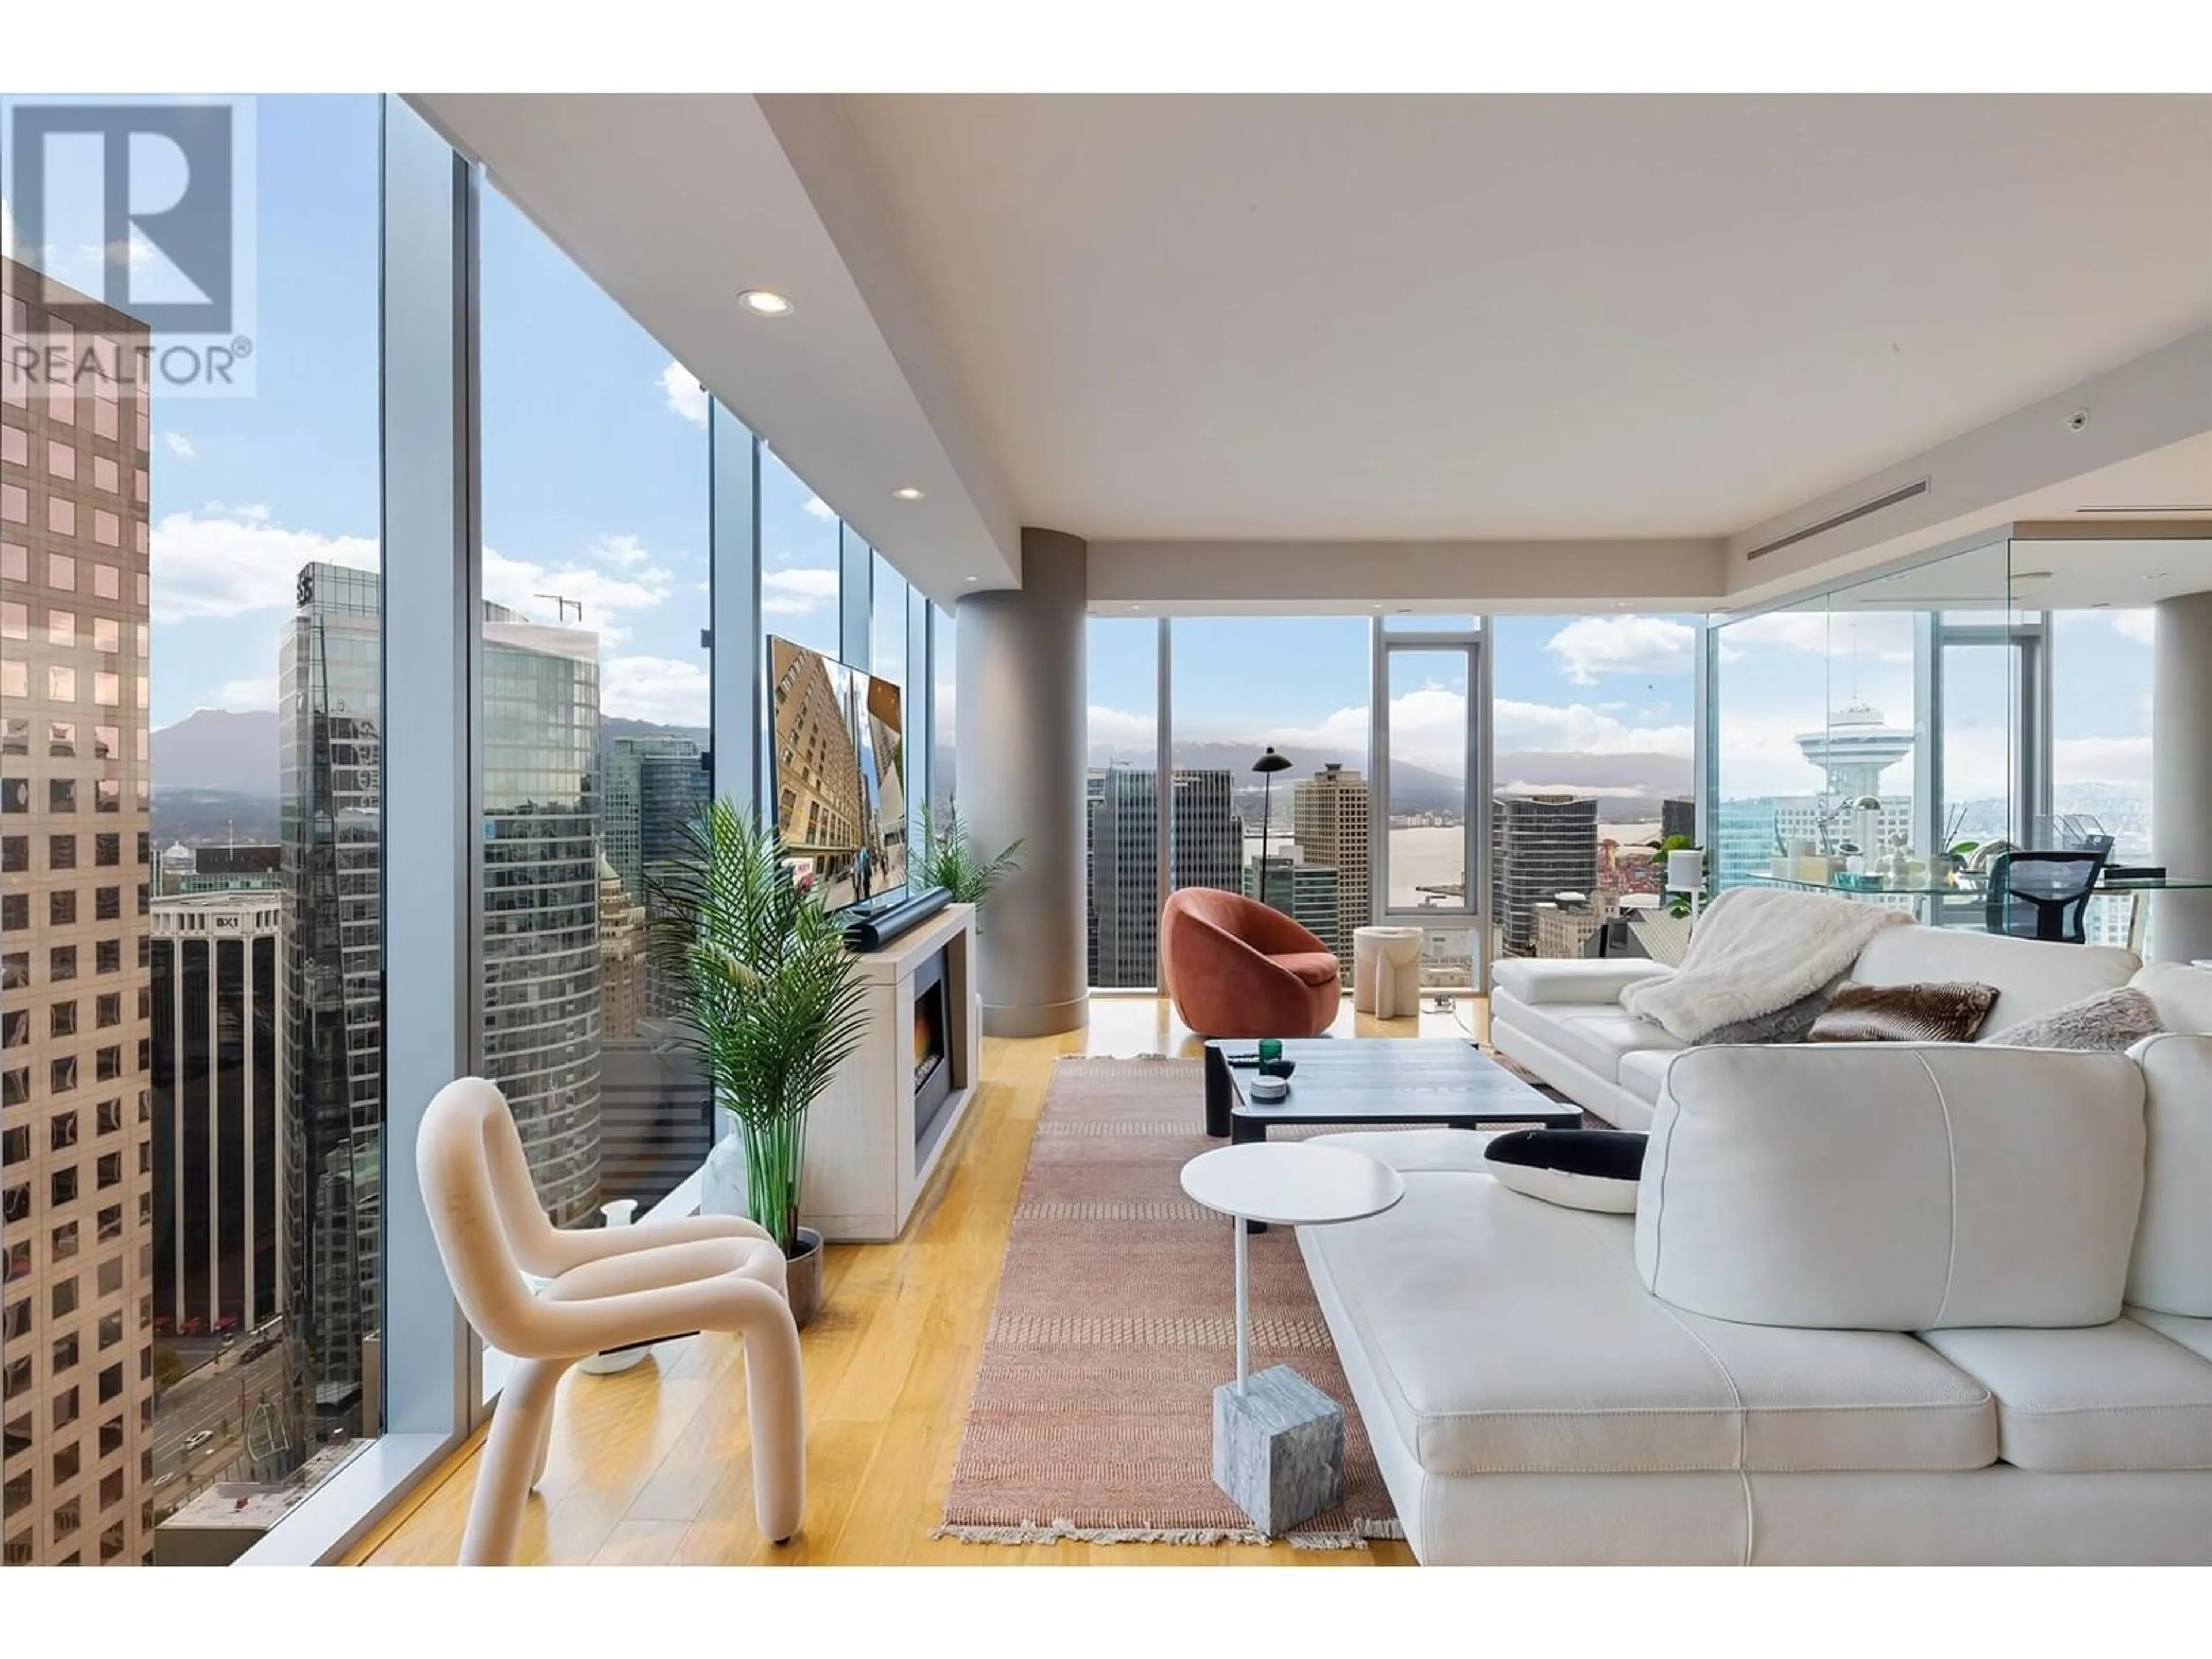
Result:
<svg viewBox="0 0 2212 1659"><path fill-rule="evenodd" d="M1084 611L1091 549L1022 531L1022 586L960 599L953 726L960 818L987 854L1022 841L1022 867L982 916L982 1029L1079 1031L1084 984Z"/></svg>

